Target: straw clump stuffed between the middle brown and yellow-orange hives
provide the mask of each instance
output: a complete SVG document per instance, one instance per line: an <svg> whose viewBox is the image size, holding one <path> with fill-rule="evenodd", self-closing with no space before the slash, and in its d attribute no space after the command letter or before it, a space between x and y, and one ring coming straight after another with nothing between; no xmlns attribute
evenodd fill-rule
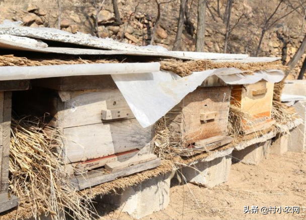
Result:
<svg viewBox="0 0 306 220"><path fill-rule="evenodd" d="M246 126L251 126L252 116L241 108L230 105L230 112L228 113L227 135L238 137L243 135L246 131Z"/></svg>

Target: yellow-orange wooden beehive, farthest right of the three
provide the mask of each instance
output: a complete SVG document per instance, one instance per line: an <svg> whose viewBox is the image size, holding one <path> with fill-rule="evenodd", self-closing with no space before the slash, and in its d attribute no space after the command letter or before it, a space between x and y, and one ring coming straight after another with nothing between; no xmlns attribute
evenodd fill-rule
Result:
<svg viewBox="0 0 306 220"><path fill-rule="evenodd" d="M250 123L246 123L245 133L266 129L275 123L271 118L273 88L274 84L266 81L233 87L231 104L252 117Z"/></svg>

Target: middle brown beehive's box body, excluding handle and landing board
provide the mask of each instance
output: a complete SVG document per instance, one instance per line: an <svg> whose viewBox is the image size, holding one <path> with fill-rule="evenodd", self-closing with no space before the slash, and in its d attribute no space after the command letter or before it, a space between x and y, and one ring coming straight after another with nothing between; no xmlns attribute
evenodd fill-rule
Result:
<svg viewBox="0 0 306 220"><path fill-rule="evenodd" d="M226 136L231 87L197 88L189 93L167 115L168 127L187 146L213 136ZM217 112L212 120L201 121L201 115Z"/></svg>

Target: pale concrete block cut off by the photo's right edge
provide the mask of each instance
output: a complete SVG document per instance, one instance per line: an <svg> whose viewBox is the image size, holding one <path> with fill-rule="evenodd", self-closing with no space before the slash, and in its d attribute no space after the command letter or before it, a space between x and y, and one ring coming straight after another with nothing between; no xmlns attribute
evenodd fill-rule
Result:
<svg viewBox="0 0 306 220"><path fill-rule="evenodd" d="M288 139L288 151L304 152L306 142L306 101L299 101L293 105L296 113L301 117L303 122L296 128L290 131L290 138Z"/></svg>

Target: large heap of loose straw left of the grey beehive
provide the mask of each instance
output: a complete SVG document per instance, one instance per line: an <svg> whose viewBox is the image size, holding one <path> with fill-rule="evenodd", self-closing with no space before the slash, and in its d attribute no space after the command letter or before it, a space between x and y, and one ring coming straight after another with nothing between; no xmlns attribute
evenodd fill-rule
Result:
<svg viewBox="0 0 306 220"><path fill-rule="evenodd" d="M12 118L11 127L9 184L11 193L20 199L21 209L34 217L67 213L74 219L90 219L91 200L70 187L64 175L57 153L61 145L55 139L58 131L29 118ZM17 214L21 218L29 215Z"/></svg>

